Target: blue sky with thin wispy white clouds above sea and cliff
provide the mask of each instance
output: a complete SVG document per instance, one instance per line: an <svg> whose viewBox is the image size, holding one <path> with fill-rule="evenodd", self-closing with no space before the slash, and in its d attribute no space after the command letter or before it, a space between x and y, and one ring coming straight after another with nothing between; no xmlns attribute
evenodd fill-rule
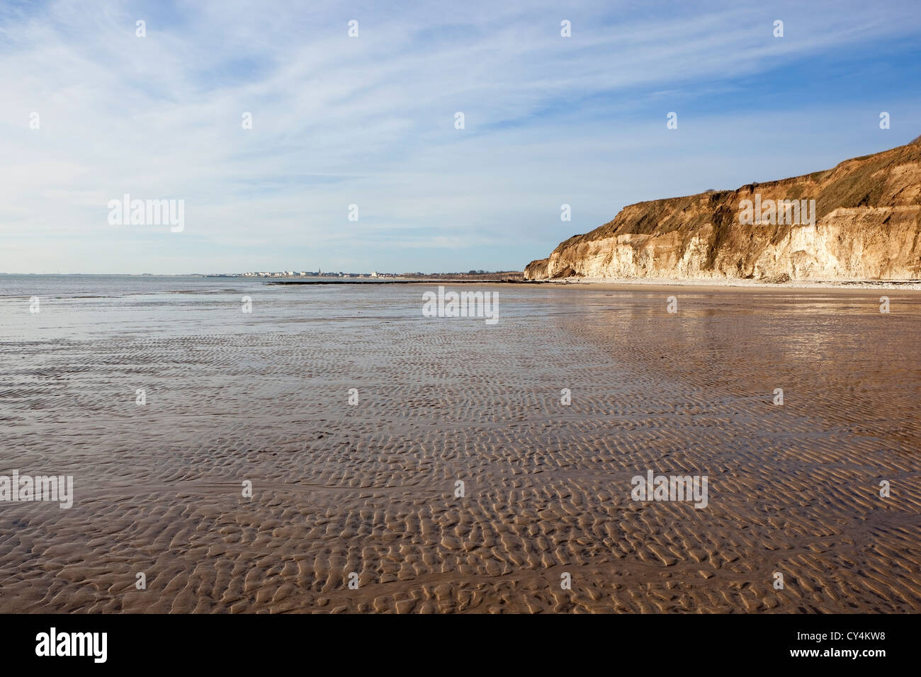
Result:
<svg viewBox="0 0 921 677"><path fill-rule="evenodd" d="M917 0L0 0L0 273L522 270L908 143L919 84Z"/></svg>

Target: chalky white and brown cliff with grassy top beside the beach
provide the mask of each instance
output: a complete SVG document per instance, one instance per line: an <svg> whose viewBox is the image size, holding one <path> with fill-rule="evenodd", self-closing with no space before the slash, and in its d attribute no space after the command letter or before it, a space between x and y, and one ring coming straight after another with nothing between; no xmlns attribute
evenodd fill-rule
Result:
<svg viewBox="0 0 921 677"><path fill-rule="evenodd" d="M749 212L754 223L745 200L761 207ZM778 200L801 205L799 218L786 209L777 211L787 218L772 219L769 206ZM810 200L814 219L807 216ZM631 204L525 267L530 280L570 275L769 282L921 277L921 137L805 176Z"/></svg>

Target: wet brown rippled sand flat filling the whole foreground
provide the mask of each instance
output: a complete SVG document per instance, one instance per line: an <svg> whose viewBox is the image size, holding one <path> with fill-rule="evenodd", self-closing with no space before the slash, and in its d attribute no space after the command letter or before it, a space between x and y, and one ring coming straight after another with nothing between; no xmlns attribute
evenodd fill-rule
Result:
<svg viewBox="0 0 921 677"><path fill-rule="evenodd" d="M431 288L4 299L0 611L921 611L921 295Z"/></svg>

